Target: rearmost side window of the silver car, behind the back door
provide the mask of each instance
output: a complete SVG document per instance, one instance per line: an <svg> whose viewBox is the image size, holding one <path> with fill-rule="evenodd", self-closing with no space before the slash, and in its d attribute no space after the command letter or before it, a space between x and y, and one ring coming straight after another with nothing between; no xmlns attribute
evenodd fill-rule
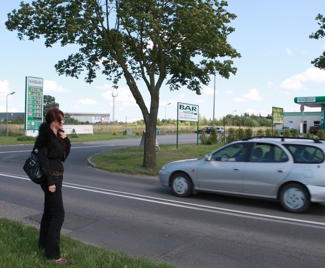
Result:
<svg viewBox="0 0 325 268"><path fill-rule="evenodd" d="M322 163L325 159L321 149L309 145L286 144L284 145L294 157L295 163Z"/></svg>

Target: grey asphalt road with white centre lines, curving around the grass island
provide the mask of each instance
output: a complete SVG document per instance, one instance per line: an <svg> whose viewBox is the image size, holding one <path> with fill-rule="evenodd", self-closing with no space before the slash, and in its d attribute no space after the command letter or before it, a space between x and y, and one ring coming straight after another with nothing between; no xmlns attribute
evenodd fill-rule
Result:
<svg viewBox="0 0 325 268"><path fill-rule="evenodd" d="M182 135L181 143L196 143ZM158 144L176 136L157 136ZM89 244L180 267L323 267L325 204L305 214L277 202L200 193L174 196L158 177L94 169L92 154L140 139L74 143L64 163L62 232ZM32 146L0 147L0 217L39 225L43 193L22 170Z"/></svg>

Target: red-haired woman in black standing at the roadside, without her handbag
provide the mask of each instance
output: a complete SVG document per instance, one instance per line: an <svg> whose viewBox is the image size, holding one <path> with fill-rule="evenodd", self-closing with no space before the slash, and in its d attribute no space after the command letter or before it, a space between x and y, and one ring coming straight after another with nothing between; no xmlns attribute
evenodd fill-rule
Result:
<svg viewBox="0 0 325 268"><path fill-rule="evenodd" d="M66 263L60 258L60 230L64 221L62 201L63 164L70 152L71 143L63 132L63 112L50 108L45 123L39 128L36 139L40 169L45 176L41 184L45 195L44 212L41 220L39 248L45 250L48 260Z"/></svg>

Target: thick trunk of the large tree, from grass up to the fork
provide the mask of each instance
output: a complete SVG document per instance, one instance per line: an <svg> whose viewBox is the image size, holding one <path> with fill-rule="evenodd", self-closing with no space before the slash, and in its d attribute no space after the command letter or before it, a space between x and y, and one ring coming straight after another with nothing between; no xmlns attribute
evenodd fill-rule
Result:
<svg viewBox="0 0 325 268"><path fill-rule="evenodd" d="M150 114L145 118L146 133L144 139L143 166L146 169L156 166L156 126L158 107L150 109Z"/></svg>

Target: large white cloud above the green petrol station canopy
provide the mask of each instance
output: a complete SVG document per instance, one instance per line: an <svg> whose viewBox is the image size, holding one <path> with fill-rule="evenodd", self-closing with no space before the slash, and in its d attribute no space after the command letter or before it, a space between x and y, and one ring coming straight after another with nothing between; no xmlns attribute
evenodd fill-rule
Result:
<svg viewBox="0 0 325 268"><path fill-rule="evenodd" d="M280 84L280 88L291 90L305 89L303 83L306 82L325 84L325 71L314 67L308 68L302 74L294 75L284 80Z"/></svg>

